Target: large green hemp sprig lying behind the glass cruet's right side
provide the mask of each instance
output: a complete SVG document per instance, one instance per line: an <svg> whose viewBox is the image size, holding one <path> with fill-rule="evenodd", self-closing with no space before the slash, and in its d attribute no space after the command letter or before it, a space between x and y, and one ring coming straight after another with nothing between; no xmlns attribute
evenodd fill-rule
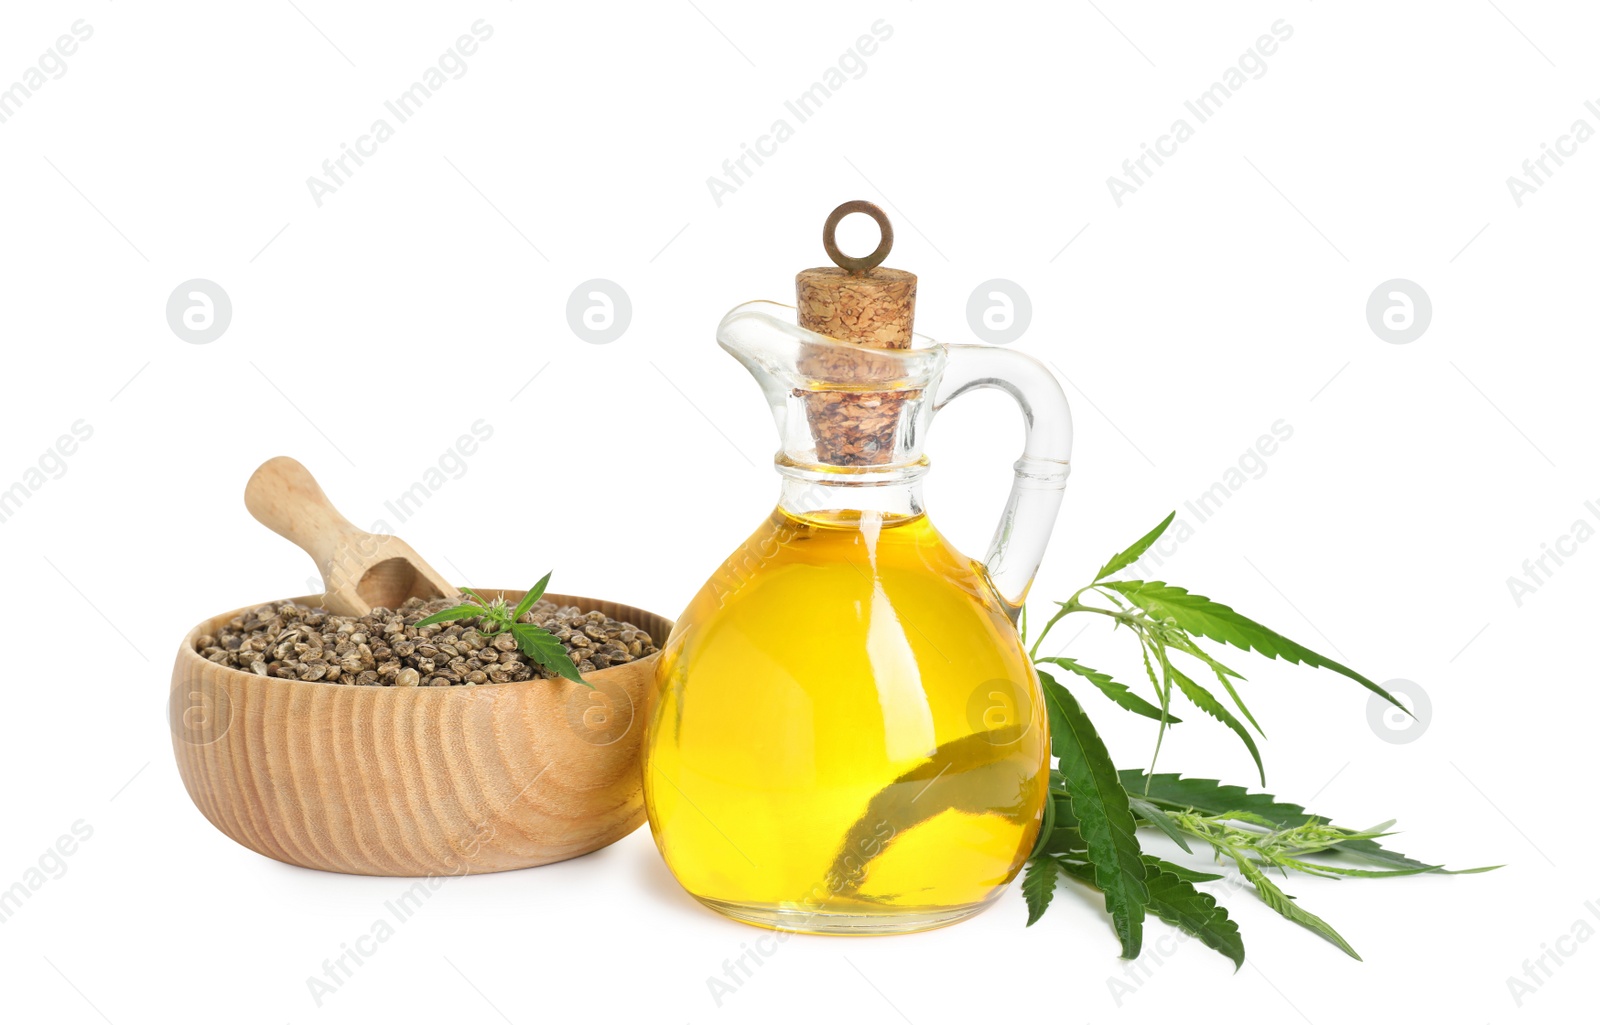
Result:
<svg viewBox="0 0 1600 1025"><path fill-rule="evenodd" d="M1270 793L1250 793L1243 787L1230 787L1214 779L1157 776L1155 760L1166 729L1182 721L1171 713L1176 689L1189 704L1227 726L1243 742L1256 763L1261 782L1266 784L1261 752L1245 723L1250 723L1256 734L1262 737L1266 734L1235 688L1235 681L1245 678L1200 648L1197 638L1254 651L1269 659L1331 670L1384 697L1406 715L1411 712L1384 688L1347 665L1320 656L1219 601L1162 580L1107 579L1136 563L1173 523L1174 515L1168 515L1155 529L1112 556L1094 579L1069 600L1058 601L1056 614L1029 649L1045 696L1051 753L1058 768L1050 774L1045 822L1022 876L1027 924L1038 921L1050 907L1059 876L1067 875L1106 895L1106 910L1122 942L1123 958L1139 956L1142 923L1149 911L1222 953L1235 967L1242 966L1245 945L1237 923L1229 919L1227 910L1214 897L1195 886L1222 876L1144 854L1136 832L1147 827L1163 833L1187 854L1194 852L1189 840L1203 841L1219 863L1230 862L1237 868L1267 907L1360 959L1355 948L1333 926L1285 894L1267 873L1386 878L1442 873L1445 871L1442 865L1418 862L1381 846L1379 838L1387 836L1384 830L1394 822L1371 830L1347 830L1322 816L1309 814L1299 804L1278 801ZM1104 604L1090 603L1091 598ZM1050 628L1072 612L1109 617L1115 624L1114 628L1126 627L1134 635L1146 678L1154 688L1154 702L1077 659L1038 656L1040 643ZM1022 632L1026 643L1026 617ZM1187 675L1181 668L1179 657L1197 664L1198 668L1190 667L1195 676L1213 675L1243 721ZM1118 772L1072 691L1058 683L1045 667L1061 668L1086 680L1117 707L1155 720L1158 728L1150 769ZM1350 868L1320 860L1323 855L1347 855L1382 868ZM1464 871L1490 868L1498 865Z"/></svg>

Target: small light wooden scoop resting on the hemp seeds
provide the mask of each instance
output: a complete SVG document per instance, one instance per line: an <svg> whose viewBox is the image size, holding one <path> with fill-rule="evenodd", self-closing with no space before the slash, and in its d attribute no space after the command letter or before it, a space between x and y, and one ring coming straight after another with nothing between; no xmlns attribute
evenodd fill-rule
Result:
<svg viewBox="0 0 1600 1025"><path fill-rule="evenodd" d="M373 606L398 608L406 598L459 593L411 545L390 534L368 534L339 515L317 478L288 456L275 456L245 485L250 515L298 544L322 571L323 608L366 616Z"/></svg>

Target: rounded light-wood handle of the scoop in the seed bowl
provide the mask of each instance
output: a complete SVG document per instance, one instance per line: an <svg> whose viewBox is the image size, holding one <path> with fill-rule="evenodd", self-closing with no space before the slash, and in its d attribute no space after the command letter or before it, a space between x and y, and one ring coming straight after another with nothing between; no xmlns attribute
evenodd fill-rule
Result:
<svg viewBox="0 0 1600 1025"><path fill-rule="evenodd" d="M373 534L346 520L310 470L288 456L274 456L250 475L245 485L245 507L262 526L288 537L310 555L330 593L342 592L341 584L360 579ZM357 566L355 563L362 563Z"/></svg>

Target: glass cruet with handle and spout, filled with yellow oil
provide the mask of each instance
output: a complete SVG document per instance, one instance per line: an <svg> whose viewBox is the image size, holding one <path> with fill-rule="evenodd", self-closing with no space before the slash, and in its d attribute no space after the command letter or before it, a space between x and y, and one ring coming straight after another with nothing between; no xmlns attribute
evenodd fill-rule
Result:
<svg viewBox="0 0 1600 1025"><path fill-rule="evenodd" d="M866 213L883 227L882 261L888 221ZM835 261L838 216L824 232ZM883 296L874 281L888 280L888 305L909 305L915 278L877 269L910 278L896 293L859 264L827 269L822 313L882 326L885 310L861 315L859 293L870 305ZM808 310L816 321L816 273L800 275L802 321ZM645 804L678 883L757 926L885 934L960 921L1016 876L1043 816L1043 699L1014 622L1061 505L1070 413L1030 357L910 336L909 309L888 318L901 313L898 349L821 334L773 302L741 305L717 329L771 406L782 485L662 648ZM978 563L923 510L922 445L939 409L982 387L1018 401L1027 433Z"/></svg>

